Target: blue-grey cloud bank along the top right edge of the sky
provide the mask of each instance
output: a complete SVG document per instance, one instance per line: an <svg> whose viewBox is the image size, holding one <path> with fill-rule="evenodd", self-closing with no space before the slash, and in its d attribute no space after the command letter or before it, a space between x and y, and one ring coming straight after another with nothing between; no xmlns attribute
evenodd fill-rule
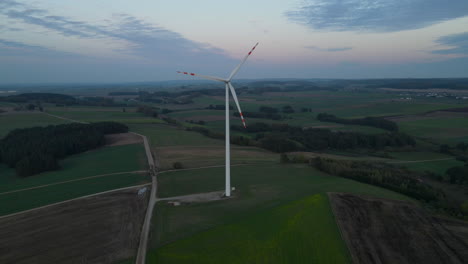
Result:
<svg viewBox="0 0 468 264"><path fill-rule="evenodd" d="M286 12L314 29L372 32L419 29L467 15L466 0L304 0Z"/></svg>

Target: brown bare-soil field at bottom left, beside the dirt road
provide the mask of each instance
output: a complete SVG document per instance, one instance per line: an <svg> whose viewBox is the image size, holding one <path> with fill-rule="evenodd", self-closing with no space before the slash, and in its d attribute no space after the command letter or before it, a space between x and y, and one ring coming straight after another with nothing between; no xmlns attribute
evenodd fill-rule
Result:
<svg viewBox="0 0 468 264"><path fill-rule="evenodd" d="M140 189L0 218L0 263L113 263L134 256L149 197Z"/></svg>

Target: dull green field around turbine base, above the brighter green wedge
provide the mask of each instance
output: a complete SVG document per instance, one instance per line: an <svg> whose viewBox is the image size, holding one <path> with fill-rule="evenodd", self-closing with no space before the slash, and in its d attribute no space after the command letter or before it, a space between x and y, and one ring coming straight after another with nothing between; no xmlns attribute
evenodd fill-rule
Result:
<svg viewBox="0 0 468 264"><path fill-rule="evenodd" d="M198 236L197 234L203 234L204 231L211 232L212 228L236 224L250 219L253 214L305 199L314 194L343 191L392 199L408 199L382 188L330 176L305 165L236 166L232 167L231 175L232 186L236 187L232 199L204 204L183 204L177 207L163 202L158 203L155 210L157 213L153 218L154 230L150 255L156 256L160 247L172 245L172 242L174 244L171 250L191 252L201 241L191 240L193 248L188 249L186 243L178 244L179 239L191 239L191 235ZM161 197L218 191L223 188L224 168L174 171L159 176ZM217 239L224 239L223 232L225 231L222 231ZM210 235L213 239L215 239L214 234L216 233ZM200 235L200 239L203 237ZM239 240L237 243L248 245L249 240ZM206 250L209 251L209 248ZM197 256L193 257L197 259Z"/></svg>

